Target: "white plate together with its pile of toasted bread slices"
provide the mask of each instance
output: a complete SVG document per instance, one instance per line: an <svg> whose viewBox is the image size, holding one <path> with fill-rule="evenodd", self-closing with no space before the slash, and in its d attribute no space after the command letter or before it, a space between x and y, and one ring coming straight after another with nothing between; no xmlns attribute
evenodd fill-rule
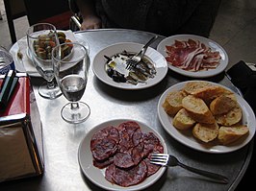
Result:
<svg viewBox="0 0 256 191"><path fill-rule="evenodd" d="M158 117L182 144L205 153L229 153L254 136L252 108L231 89L207 81L170 86L160 97Z"/></svg>

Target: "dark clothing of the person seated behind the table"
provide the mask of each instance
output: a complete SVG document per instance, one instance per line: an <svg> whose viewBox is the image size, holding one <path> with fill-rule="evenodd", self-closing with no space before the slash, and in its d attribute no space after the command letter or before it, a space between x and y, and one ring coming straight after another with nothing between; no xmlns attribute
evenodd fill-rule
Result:
<svg viewBox="0 0 256 191"><path fill-rule="evenodd" d="M94 0L103 28L209 36L220 0Z"/></svg>

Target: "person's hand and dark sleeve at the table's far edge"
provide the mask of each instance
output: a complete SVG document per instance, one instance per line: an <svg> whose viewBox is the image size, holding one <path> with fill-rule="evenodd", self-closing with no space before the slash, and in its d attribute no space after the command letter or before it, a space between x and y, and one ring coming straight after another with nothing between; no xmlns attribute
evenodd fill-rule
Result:
<svg viewBox="0 0 256 191"><path fill-rule="evenodd" d="M76 4L83 18L81 30L101 28L101 20L96 15L93 0L76 0Z"/></svg>

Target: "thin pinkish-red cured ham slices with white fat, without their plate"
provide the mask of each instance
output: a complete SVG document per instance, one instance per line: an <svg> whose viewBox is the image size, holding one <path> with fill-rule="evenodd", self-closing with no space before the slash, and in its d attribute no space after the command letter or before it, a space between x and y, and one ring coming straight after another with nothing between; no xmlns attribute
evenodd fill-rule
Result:
<svg viewBox="0 0 256 191"><path fill-rule="evenodd" d="M221 57L199 40L175 40L166 46L166 61L178 68L188 71L200 71L217 68Z"/></svg>

